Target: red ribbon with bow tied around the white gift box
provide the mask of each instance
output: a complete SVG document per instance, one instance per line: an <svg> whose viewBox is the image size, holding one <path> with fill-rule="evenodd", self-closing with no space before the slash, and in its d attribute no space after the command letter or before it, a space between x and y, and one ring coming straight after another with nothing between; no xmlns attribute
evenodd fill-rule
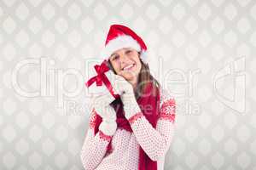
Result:
<svg viewBox="0 0 256 170"><path fill-rule="evenodd" d="M105 75L105 72L109 71L109 67L107 65L107 61L104 60L101 65L94 65L94 69L96 70L97 75L95 77L91 77L86 83L86 87L89 88L90 85L96 82L96 86L102 86L102 82L108 88L110 94L113 95L115 99L119 97L119 94L113 93L113 87L111 82L109 82L108 77Z"/></svg>

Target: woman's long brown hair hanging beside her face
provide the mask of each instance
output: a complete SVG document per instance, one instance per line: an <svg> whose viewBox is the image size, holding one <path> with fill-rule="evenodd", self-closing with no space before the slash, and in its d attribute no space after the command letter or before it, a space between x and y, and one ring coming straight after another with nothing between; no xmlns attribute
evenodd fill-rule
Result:
<svg viewBox="0 0 256 170"><path fill-rule="evenodd" d="M135 90L136 99L139 96L144 95L143 92L148 82L153 82L154 84L154 91L152 92L154 93L154 95L156 95L157 88L160 88L160 83L151 75L148 64L145 64L141 59L140 57L141 53L138 52L138 55L139 55L140 62L142 64L142 68L138 75L137 89ZM113 66L111 65L111 62L109 61L109 59L108 59L108 64L111 70L113 70L114 74L117 74L116 71L114 71Z"/></svg>

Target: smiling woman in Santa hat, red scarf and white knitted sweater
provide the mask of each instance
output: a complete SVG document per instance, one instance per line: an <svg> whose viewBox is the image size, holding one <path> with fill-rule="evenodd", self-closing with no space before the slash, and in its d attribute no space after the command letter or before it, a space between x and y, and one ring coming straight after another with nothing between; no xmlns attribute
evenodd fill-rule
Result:
<svg viewBox="0 0 256 170"><path fill-rule="evenodd" d="M81 150L84 169L163 170L174 130L175 100L150 74L147 47L130 28L113 25L102 56L116 74L119 99L92 99Z"/></svg>

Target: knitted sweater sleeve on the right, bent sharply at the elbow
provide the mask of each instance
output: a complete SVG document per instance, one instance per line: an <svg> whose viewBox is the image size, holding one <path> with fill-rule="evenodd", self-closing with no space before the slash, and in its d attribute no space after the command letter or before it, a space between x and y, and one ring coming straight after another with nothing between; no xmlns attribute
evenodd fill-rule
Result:
<svg viewBox="0 0 256 170"><path fill-rule="evenodd" d="M158 161L166 155L174 134L175 99L166 90L161 89L160 92L160 114L156 128L152 127L142 111L137 111L128 120L137 142L152 161Z"/></svg>

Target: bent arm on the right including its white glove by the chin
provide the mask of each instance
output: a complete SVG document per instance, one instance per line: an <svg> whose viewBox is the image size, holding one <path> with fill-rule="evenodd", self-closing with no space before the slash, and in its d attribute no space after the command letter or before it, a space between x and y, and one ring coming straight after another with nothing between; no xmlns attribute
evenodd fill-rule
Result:
<svg viewBox="0 0 256 170"><path fill-rule="evenodd" d="M167 91L160 87L160 113L156 128L152 127L147 118L143 116L133 87L124 77L115 76L113 87L121 94L124 104L125 118L130 122L131 129L146 154L153 161L160 160L166 155L166 151L172 141L175 120L175 100ZM125 93L124 93L125 92Z"/></svg>

